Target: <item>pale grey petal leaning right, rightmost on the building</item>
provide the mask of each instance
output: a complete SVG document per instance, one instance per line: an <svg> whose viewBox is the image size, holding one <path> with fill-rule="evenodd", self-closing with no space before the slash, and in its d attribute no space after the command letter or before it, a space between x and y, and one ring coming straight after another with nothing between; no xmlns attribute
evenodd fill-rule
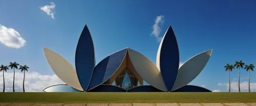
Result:
<svg viewBox="0 0 256 106"><path fill-rule="evenodd" d="M208 62L212 49L201 52L200 54L187 60L178 71L178 75L172 91L177 90L194 80L203 70Z"/></svg>

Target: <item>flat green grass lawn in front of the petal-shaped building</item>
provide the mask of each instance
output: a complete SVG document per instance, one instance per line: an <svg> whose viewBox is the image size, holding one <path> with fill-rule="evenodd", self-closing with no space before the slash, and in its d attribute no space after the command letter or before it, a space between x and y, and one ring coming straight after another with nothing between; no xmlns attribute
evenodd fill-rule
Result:
<svg viewBox="0 0 256 106"><path fill-rule="evenodd" d="M256 102L255 93L0 93L0 102Z"/></svg>

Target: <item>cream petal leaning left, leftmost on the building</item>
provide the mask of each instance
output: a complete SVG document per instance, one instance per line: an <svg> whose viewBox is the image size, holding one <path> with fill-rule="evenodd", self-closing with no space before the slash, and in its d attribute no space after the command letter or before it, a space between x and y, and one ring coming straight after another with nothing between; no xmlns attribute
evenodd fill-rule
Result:
<svg viewBox="0 0 256 106"><path fill-rule="evenodd" d="M60 80L79 91L83 91L74 67L56 52L46 47L44 47L44 51L49 65Z"/></svg>

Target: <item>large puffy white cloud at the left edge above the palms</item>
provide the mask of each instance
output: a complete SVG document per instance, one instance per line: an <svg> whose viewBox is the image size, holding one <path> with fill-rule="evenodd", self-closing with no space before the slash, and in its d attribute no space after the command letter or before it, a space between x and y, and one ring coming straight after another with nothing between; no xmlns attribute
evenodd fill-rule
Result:
<svg viewBox="0 0 256 106"><path fill-rule="evenodd" d="M0 42L8 47L20 48L26 41L12 28L0 24Z"/></svg>

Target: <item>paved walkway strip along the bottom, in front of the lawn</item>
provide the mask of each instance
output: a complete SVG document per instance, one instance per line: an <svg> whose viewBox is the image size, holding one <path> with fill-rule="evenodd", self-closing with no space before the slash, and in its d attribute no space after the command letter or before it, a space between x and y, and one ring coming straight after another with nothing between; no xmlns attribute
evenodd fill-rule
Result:
<svg viewBox="0 0 256 106"><path fill-rule="evenodd" d="M256 106L256 103L0 103L0 106Z"/></svg>

